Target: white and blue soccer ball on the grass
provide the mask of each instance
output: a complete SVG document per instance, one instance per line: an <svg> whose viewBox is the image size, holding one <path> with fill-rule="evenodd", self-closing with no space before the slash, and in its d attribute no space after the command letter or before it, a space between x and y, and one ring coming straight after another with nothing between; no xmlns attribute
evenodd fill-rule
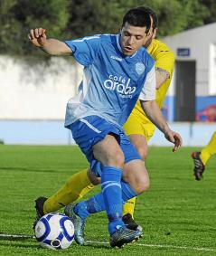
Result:
<svg viewBox="0 0 216 256"><path fill-rule="evenodd" d="M36 223L36 240L42 247L52 250L66 249L73 242L74 226L62 213L48 213Z"/></svg>

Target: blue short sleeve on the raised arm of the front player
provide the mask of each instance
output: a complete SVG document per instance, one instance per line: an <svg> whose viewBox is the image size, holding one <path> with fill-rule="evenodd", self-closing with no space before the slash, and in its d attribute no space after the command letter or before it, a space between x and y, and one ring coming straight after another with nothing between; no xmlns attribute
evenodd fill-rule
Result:
<svg viewBox="0 0 216 256"><path fill-rule="evenodd" d="M65 41L73 57L83 66L89 66L96 58L99 52L100 36L87 36L76 40Z"/></svg>

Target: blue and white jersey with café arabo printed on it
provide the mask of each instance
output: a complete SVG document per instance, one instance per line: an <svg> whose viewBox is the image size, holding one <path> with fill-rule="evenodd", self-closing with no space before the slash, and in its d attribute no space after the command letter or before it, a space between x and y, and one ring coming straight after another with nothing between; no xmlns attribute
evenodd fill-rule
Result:
<svg viewBox="0 0 216 256"><path fill-rule="evenodd" d="M122 126L138 98L155 100L155 62L144 47L126 56L121 52L118 34L65 43L84 66L79 93L67 104L65 127L92 115Z"/></svg>

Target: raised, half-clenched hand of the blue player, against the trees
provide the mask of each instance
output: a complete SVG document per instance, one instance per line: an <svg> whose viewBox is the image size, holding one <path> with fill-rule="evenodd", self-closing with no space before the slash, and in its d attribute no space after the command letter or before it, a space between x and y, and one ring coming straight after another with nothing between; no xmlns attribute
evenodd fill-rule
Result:
<svg viewBox="0 0 216 256"><path fill-rule="evenodd" d="M44 28L34 28L30 30L28 38L36 47L42 47L46 43L46 30Z"/></svg>

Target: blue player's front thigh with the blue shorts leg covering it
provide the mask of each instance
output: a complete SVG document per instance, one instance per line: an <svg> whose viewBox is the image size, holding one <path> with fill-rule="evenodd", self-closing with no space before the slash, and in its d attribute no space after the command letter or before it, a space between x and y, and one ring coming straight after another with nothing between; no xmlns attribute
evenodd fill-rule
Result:
<svg viewBox="0 0 216 256"><path fill-rule="evenodd" d="M124 163L124 155L118 145L123 130L99 116L88 116L70 125L72 135L87 157L90 168L100 161L102 165Z"/></svg>

